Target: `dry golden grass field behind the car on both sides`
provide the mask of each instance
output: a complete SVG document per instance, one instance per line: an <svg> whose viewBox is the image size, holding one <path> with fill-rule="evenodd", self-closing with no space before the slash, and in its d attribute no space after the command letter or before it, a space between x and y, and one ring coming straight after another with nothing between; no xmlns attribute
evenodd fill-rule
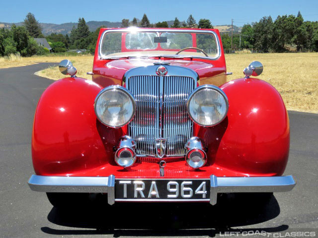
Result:
<svg viewBox="0 0 318 238"><path fill-rule="evenodd" d="M4 62L0 58L0 67L59 62L66 58L78 69L77 76L91 79L86 72L92 70L92 56L30 57L12 62ZM226 55L226 60L228 72L233 72L228 80L243 77L244 67L258 60L264 65L258 78L269 82L280 92L288 110L318 113L318 53L233 54ZM54 80L62 77L58 67L44 69L37 75Z"/></svg>

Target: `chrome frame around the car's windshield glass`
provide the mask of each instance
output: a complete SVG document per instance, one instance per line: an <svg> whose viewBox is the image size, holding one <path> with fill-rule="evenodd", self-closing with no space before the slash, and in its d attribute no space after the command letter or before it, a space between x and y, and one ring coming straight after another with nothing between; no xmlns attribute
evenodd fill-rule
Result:
<svg viewBox="0 0 318 238"><path fill-rule="evenodd" d="M172 30L172 29L143 29L143 28L134 28L135 31L139 32L188 32L188 33L212 33L215 36L216 42L217 42L217 50L218 50L218 55L214 58L210 57L200 57L200 56L179 56L179 55L157 55L158 57L173 57L173 58L194 58L194 59L207 59L207 60L217 60L220 58L222 55L221 47L220 47L220 39L218 38L218 35L214 31L207 31L207 30ZM126 29L111 29L111 30L106 30L103 32L103 34L100 37L99 45L98 45L98 56L101 60L108 60L112 59L112 57L102 57L101 54L101 44L103 42L104 36L107 32L131 32L131 29L126 28ZM168 51L167 51L168 53ZM122 56L119 58L115 59L121 59L121 58L126 58L127 56ZM156 57L156 55L151 55L149 57ZM133 57L137 58L137 57Z"/></svg>

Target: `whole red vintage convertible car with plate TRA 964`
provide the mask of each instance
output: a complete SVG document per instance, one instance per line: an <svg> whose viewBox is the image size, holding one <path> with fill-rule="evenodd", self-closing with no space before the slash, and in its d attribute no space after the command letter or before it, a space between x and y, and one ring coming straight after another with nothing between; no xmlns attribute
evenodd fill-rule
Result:
<svg viewBox="0 0 318 238"><path fill-rule="evenodd" d="M115 202L210 202L221 193L290 191L289 119L254 61L227 82L215 29L102 28L92 81L51 84L32 131L32 190ZM80 193L80 194L79 194Z"/></svg>

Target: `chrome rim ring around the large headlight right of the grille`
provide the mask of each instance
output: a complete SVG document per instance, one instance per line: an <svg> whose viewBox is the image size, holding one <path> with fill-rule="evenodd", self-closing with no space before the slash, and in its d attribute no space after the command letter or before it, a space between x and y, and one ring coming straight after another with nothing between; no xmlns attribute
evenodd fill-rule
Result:
<svg viewBox="0 0 318 238"><path fill-rule="evenodd" d="M190 101L191 101L191 99L193 98L193 96L194 96L197 92L199 92L199 91L201 91L201 90L204 90L204 89L213 89L213 90L217 91L218 93L220 93L220 94L223 96L223 98L224 98L224 100L225 100L225 103L226 103L226 112L225 112L223 118L222 118L221 120L219 120L218 122L216 122L216 123L214 123L214 124L211 124L211 125L205 125L205 124L201 124L201 123L197 122L195 119L192 118L192 116L191 116L191 114L190 114ZM193 122L195 122L196 124L198 124L198 125L200 125L200 126L203 126L203 127L211 127L211 126L215 126L215 125L221 123L221 122L227 117L228 111L229 111L229 100L228 100L228 97L227 97L227 95L223 92L223 90L222 90L221 88L217 87L217 86L210 85L210 84L201 85L201 86L195 88L195 89L189 94L189 96L188 96L188 99L187 99L187 113L188 113L188 115L189 115L189 118L190 118Z"/></svg>

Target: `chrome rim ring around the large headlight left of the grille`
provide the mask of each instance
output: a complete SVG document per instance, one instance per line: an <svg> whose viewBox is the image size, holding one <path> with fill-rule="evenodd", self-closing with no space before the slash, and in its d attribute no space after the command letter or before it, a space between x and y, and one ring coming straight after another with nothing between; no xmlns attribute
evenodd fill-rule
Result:
<svg viewBox="0 0 318 238"><path fill-rule="evenodd" d="M122 125L116 125L116 126L105 123L102 119L100 119L100 118L98 117L98 114L97 114L97 111L96 111L96 103L97 103L97 100L99 99L99 97L100 97L104 92L107 92L107 91L109 91L109 90L115 90L115 89L116 89L116 90L121 90L122 92L126 93L126 94L130 97L130 99L131 99L131 101L132 101L132 104L133 104L133 113L132 113L131 118L130 118L126 123L124 123L124 124L122 124ZM135 113L136 113L136 100L135 100L134 95L133 95L128 89L126 89L126 88L124 88L123 86L120 86L120 85L111 85L111 86L108 86L108 87L106 87L106 88L103 88L103 89L97 94L97 96L96 96L96 98L95 98L95 101L94 101L94 112L95 112L96 118L97 118L98 121L100 121L102 124L104 124L104 125L106 125L106 126L108 126L108 127L111 127L111 128L120 128L120 127L123 127L123 126L129 124L129 123L134 119L134 116L135 116Z"/></svg>

